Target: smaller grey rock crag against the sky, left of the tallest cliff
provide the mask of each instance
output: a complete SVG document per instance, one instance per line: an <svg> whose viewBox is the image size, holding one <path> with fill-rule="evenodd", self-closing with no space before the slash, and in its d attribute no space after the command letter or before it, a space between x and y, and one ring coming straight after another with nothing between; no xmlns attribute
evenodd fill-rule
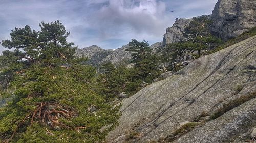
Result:
<svg viewBox="0 0 256 143"><path fill-rule="evenodd" d="M185 27L187 27L192 19L176 19L173 24L173 27L166 29L166 33L163 36L163 45L175 43L179 41L188 40L183 36Z"/></svg>

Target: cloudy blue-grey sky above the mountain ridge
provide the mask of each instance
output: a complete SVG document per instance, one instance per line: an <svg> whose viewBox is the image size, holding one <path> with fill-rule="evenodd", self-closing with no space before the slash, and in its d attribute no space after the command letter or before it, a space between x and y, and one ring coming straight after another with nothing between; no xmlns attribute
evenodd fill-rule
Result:
<svg viewBox="0 0 256 143"><path fill-rule="evenodd" d="M162 41L176 18L211 14L217 0L1 0L0 42L11 30L60 20L78 48L116 49L131 39ZM0 46L0 51L5 48Z"/></svg>

